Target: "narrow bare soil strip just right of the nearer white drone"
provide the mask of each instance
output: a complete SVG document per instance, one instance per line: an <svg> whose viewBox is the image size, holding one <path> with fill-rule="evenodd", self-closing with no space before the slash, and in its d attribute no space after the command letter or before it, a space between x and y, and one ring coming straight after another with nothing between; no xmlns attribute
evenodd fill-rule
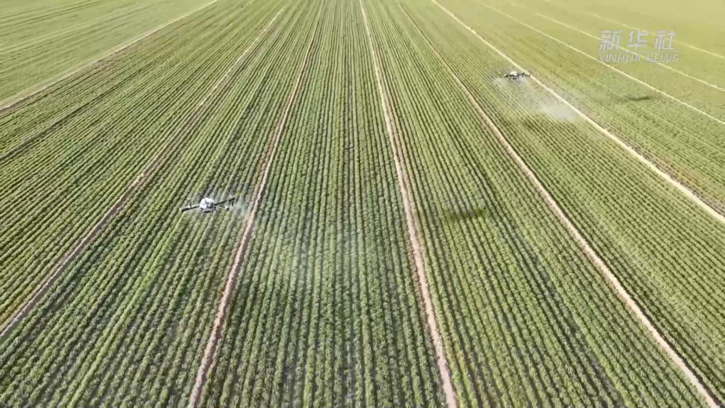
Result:
<svg viewBox="0 0 725 408"><path fill-rule="evenodd" d="M319 23L320 17L318 17L318 24ZM236 286L236 280L239 276L239 271L241 270L241 264L244 262L245 258L247 258L249 242L252 241L254 220L256 219L257 211L260 208L260 202L262 201L262 195L264 194L265 186L267 184L267 180L272 169L272 163L274 162L274 158L276 156L279 141L286 126L287 119L289 119L289 113L292 110L292 105L294 105L295 100L297 100L297 92L302 85L302 78L304 77L305 70L307 69L307 60L310 57L312 44L315 41L315 34L317 33L318 24L315 25L315 30L312 32L312 36L310 36L310 42L307 44L307 51L305 52L305 57L302 59L302 66L299 68L299 73L297 73L297 81L295 81L294 86L292 87L292 92L289 95L287 105L284 108L284 112L272 140L272 144L270 145L270 148L267 152L264 165L265 167L264 171L262 172L262 179L260 179L260 183L254 190L252 203L249 206L249 213L247 214L247 219L244 220L244 227L242 229L241 238L239 239L239 246L237 247L233 264L231 266L231 269L229 269L229 274L227 275L224 291L219 301L219 307L216 317L214 319L214 325L212 326L209 340L207 340L207 347L204 349L202 363L199 365L199 371L196 374L194 388L191 391L191 396L189 396L189 408L196 408L199 407L199 404L201 404L202 391L204 391L204 385L206 385L209 378L209 373L212 370L212 364L214 362L217 349L219 348L219 340L222 337L225 329L226 316L229 312L229 302L231 301L231 296L234 291L234 287Z"/></svg>

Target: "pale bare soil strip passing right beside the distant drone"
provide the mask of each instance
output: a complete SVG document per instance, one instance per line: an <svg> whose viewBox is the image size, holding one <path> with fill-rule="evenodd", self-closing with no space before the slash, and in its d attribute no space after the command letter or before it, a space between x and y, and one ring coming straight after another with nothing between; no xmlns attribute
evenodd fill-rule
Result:
<svg viewBox="0 0 725 408"><path fill-rule="evenodd" d="M521 65L518 65L514 60L511 60L506 54L501 52L499 49L497 49L493 44L489 43L489 41L486 41L483 37L479 36L479 33L476 33L476 30L473 30L473 28L469 27L468 25L465 25L463 21L459 20L458 17L456 17L452 12L448 11L445 7L443 7L441 4L439 4L436 0L431 0L436 4L436 6L440 7L444 12L446 12L450 17L452 17L454 20L456 20L460 25L463 25L463 27L467 28L473 35L479 38L486 46L488 46L490 49L492 49L494 52L500 55L504 60L508 61L511 65L513 65L514 68L524 71L524 69L521 67ZM626 75L626 74L625 74ZM708 203L705 203L700 197L698 197L695 192L692 192L691 189L685 187L683 184L681 184L679 181L674 179L673 176L670 176L665 171L661 170L655 163L652 163L650 160L645 158L645 156L639 154L637 150L634 150L629 144L626 144L622 139L619 139L618 136L615 136L607 129L603 128L599 125L599 123L595 122L592 118L589 118L587 114L581 112L577 107L574 105L571 105L568 100L561 97L559 94L557 94L553 89L549 88L548 86L544 85L542 81L539 81L535 76L529 77L531 81L534 81L534 83L537 83L539 86L541 86L543 89L548 91L552 97L555 97L559 102L563 103L567 107L569 107L571 110L573 110L577 115L579 115L579 118L584 119L584 121L587 121L590 125L592 125L594 128L597 129L597 131L600 131L601 134L604 136L607 136L609 139L611 139L613 142L618 144L621 148L626 150L630 155L634 156L634 158L637 158L640 163L647 166L647 168L650 168L651 171L655 172L658 176L662 177L665 181L667 181L669 184L671 184L673 187L679 190L679 192L682 192L687 198L692 200L693 203L695 203L698 207L700 207L703 211L710 214L714 219L717 221L720 221L722 224L725 224L725 216L723 214L718 213L714 208L712 208Z"/></svg>

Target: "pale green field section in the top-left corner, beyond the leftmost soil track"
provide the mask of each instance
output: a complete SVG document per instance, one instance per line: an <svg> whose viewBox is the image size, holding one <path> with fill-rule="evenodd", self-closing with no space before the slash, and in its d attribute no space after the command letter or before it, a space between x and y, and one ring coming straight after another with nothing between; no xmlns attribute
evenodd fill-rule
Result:
<svg viewBox="0 0 725 408"><path fill-rule="evenodd" d="M195 0L85 1L32 9L23 3L10 4L0 20L0 105L199 7Z"/></svg>

